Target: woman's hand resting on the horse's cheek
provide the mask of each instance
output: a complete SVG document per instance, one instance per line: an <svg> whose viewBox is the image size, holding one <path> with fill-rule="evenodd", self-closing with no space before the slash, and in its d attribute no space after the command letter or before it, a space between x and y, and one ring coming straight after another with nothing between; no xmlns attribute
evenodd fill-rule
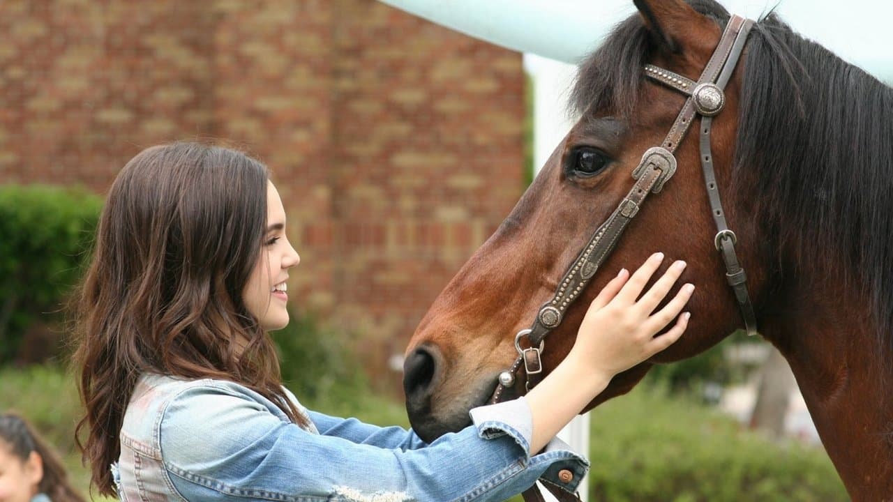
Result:
<svg viewBox="0 0 893 502"><path fill-rule="evenodd" d="M655 312L672 285L685 270L678 261L644 294L642 290L663 262L663 253L651 255L630 277L625 269L605 285L583 318L569 358L595 369L608 378L654 356L680 338L689 323L689 313L680 311L688 303L694 285L685 284L675 297ZM636 298L641 297L636 300ZM656 337L676 319L675 325Z"/></svg>

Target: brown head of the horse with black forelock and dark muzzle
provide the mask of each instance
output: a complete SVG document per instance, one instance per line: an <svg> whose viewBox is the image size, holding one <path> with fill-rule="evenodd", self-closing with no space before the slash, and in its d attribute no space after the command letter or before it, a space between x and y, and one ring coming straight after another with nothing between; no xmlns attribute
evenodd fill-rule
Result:
<svg viewBox="0 0 893 502"><path fill-rule="evenodd" d="M468 410L485 404L497 375L515 359L514 334L530 326L540 305L560 288L565 269L593 232L618 207L635 180L643 153L660 146L686 96L649 81L647 63L697 80L722 35L717 19L681 1L636 2L624 21L580 66L572 93L579 120L542 167L505 222L449 282L413 335L405 363L407 410L413 428L433 439L469 423ZM714 119L717 184L729 187L738 130L740 78L725 88ZM700 169L697 131L676 147L678 169L641 205L613 253L580 292L543 350L548 372L572 347L589 301L622 267L636 267L663 251L689 266L680 279L697 285L689 301L689 329L652 360L617 375L589 407L630 390L657 363L694 356L740 325L737 303L714 247ZM737 234L748 287L762 296L759 222L733 190L723 193ZM672 260L666 260L671 263ZM672 297L672 292L668 297Z"/></svg>

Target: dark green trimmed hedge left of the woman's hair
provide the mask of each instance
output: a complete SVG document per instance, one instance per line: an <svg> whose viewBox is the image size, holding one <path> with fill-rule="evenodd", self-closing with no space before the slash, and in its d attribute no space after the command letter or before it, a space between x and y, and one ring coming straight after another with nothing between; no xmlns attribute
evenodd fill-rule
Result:
<svg viewBox="0 0 893 502"><path fill-rule="evenodd" d="M79 279L102 198L83 189L0 187L0 364L38 318L52 324Z"/></svg>

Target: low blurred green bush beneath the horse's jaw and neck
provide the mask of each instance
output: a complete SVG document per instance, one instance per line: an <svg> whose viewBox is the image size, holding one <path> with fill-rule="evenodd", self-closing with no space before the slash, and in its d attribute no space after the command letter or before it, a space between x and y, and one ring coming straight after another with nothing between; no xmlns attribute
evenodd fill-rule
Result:
<svg viewBox="0 0 893 502"><path fill-rule="evenodd" d="M590 500L848 500L821 448L778 445L692 399L643 386L591 415Z"/></svg>

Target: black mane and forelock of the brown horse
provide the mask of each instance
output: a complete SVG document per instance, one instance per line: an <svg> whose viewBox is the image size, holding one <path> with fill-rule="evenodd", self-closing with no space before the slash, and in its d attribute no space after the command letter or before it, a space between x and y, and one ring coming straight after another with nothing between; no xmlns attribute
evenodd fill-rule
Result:
<svg viewBox="0 0 893 502"><path fill-rule="evenodd" d="M689 4L721 27L729 19L711 0ZM623 21L581 64L572 109L629 116L654 51L638 14ZM871 299L878 336L891 348L893 89L774 13L756 23L746 51L732 182L758 194L756 214L780 249L802 266L844 269Z"/></svg>

